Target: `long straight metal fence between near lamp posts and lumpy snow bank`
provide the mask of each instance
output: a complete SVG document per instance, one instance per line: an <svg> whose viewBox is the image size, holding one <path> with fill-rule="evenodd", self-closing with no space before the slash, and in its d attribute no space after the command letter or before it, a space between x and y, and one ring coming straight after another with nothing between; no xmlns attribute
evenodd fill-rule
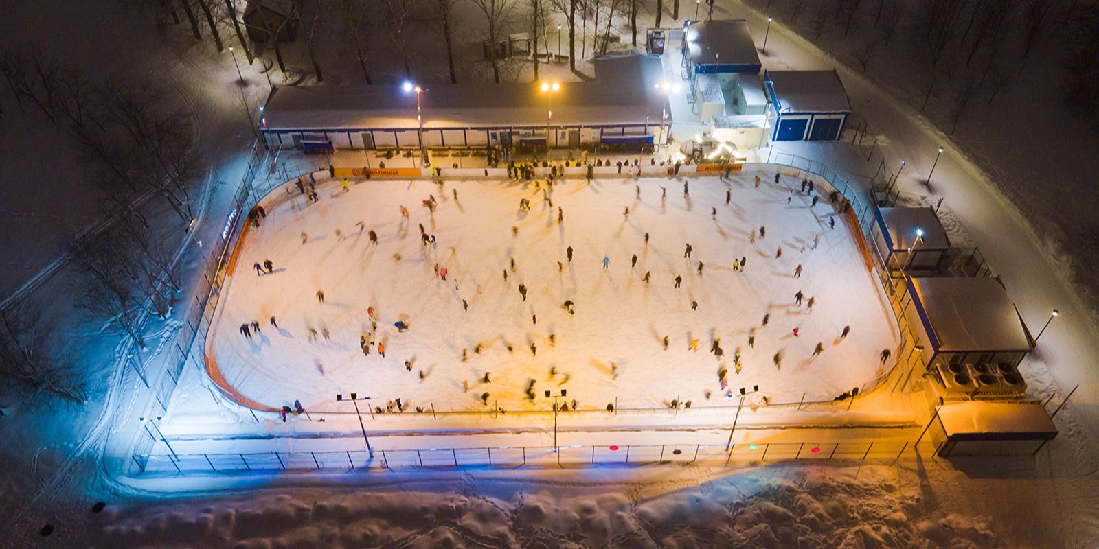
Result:
<svg viewBox="0 0 1099 549"><path fill-rule="evenodd" d="M710 466L789 460L897 461L904 457L934 457L933 442L869 440L841 442L744 442L734 445L622 446L498 446L414 450L288 451L253 453L158 453L134 462L149 473L246 473L254 471L317 471L408 468L517 468L647 466L702 463Z"/></svg>

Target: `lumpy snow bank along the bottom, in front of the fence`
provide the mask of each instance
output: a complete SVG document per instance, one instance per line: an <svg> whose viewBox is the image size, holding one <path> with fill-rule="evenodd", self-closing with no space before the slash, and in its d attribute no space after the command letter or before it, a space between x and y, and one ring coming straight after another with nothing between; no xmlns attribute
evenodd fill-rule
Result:
<svg viewBox="0 0 1099 549"><path fill-rule="evenodd" d="M775 466L715 474L698 485L680 485L680 479L670 486L596 490L526 479L493 490L492 481L465 473L456 492L298 490L134 513L108 507L93 539L101 547L299 549L1002 544L986 519L934 508L891 467ZM475 490L478 483L488 488Z"/></svg>

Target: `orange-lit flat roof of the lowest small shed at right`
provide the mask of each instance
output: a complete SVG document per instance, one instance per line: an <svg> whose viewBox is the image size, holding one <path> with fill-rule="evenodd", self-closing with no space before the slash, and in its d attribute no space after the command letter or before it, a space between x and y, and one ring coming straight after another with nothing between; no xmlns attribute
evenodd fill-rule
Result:
<svg viewBox="0 0 1099 549"><path fill-rule="evenodd" d="M989 438L975 435L1042 435L1053 438L1057 427L1041 404L1030 402L964 402L939 407L939 421L947 436ZM1001 437L1006 438L1006 437ZM1015 437L1011 437L1015 438Z"/></svg>

